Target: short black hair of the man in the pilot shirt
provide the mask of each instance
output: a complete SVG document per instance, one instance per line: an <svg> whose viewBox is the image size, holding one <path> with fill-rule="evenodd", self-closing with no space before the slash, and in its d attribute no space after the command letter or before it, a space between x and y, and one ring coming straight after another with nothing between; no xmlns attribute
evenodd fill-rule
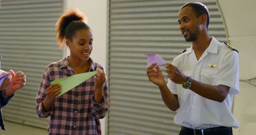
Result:
<svg viewBox="0 0 256 135"><path fill-rule="evenodd" d="M210 23L210 14L209 14L209 10L208 8L200 3L200 2L190 2L190 3L186 3L184 4L180 10L182 8L185 8L186 6L190 6L192 7L192 9L194 10L194 12L196 13L196 17L199 18L199 16L203 15L203 14L206 14L207 16L207 21L206 21L206 28L208 30L208 26L209 26L209 23Z"/></svg>

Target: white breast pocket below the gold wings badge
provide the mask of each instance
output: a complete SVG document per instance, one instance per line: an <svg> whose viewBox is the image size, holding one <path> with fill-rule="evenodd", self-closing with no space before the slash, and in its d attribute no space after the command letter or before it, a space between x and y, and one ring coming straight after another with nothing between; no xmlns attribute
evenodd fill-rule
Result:
<svg viewBox="0 0 256 135"><path fill-rule="evenodd" d="M200 73L200 81L202 83L214 85L216 79L217 70L214 69L202 69Z"/></svg>

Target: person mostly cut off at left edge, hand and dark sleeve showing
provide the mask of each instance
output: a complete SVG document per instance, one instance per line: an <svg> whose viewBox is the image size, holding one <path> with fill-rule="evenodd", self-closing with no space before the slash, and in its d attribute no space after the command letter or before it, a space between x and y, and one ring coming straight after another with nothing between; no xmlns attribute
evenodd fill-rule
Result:
<svg viewBox="0 0 256 135"><path fill-rule="evenodd" d="M0 59L2 58L0 54ZM14 92L24 87L26 85L26 75L22 71L17 71L14 73L12 70L11 79L9 79L10 75L4 79L2 84L0 84L0 127L2 130L6 130L4 127L4 121L2 118L1 108L4 107L10 99L14 96ZM0 75L6 74L6 71L0 69Z"/></svg>

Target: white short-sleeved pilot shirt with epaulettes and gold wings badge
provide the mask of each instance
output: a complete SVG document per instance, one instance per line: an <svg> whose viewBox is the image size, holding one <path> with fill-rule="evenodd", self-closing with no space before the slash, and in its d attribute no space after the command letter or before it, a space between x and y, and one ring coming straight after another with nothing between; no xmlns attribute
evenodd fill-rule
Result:
<svg viewBox="0 0 256 135"><path fill-rule="evenodd" d="M191 46L186 49L186 52L174 58L172 64L194 80L230 87L226 99L220 103L206 99L190 89L184 89L182 84L176 84L168 79L167 86L173 94L178 95L180 105L174 117L174 123L192 129L219 126L238 128L238 122L231 113L234 94L239 93L239 66L236 51L212 37L210 45L199 60Z"/></svg>

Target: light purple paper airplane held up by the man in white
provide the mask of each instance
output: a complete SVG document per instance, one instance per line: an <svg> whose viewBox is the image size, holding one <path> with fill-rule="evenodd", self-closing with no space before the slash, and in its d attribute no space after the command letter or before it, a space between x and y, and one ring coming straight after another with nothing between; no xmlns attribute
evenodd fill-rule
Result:
<svg viewBox="0 0 256 135"><path fill-rule="evenodd" d="M156 62L156 66L166 64L166 61L158 54L143 54L143 55L148 56L148 64L147 64L148 67L152 65L154 62Z"/></svg>

